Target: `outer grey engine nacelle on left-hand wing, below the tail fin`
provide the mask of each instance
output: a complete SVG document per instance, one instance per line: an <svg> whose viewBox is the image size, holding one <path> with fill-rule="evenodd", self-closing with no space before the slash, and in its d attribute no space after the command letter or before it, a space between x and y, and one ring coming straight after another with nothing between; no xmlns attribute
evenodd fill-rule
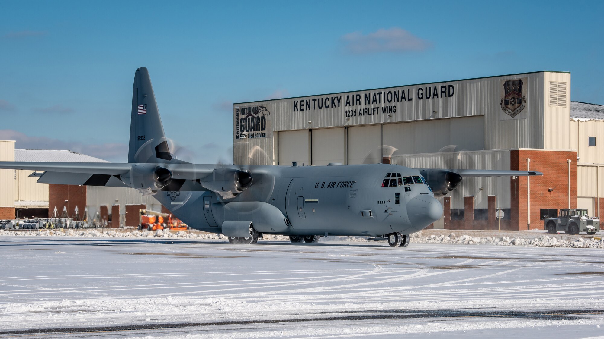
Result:
<svg viewBox="0 0 604 339"><path fill-rule="evenodd" d="M152 164L137 163L130 173L120 176L126 185L138 189L143 195L153 195L172 180L172 171Z"/></svg>

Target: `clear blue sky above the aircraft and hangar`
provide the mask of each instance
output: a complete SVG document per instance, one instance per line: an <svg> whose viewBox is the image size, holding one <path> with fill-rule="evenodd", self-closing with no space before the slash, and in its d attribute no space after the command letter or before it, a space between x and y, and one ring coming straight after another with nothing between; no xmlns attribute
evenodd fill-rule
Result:
<svg viewBox="0 0 604 339"><path fill-rule="evenodd" d="M213 163L232 103L570 71L604 104L603 2L0 1L0 139L126 161L135 69L169 138Z"/></svg>

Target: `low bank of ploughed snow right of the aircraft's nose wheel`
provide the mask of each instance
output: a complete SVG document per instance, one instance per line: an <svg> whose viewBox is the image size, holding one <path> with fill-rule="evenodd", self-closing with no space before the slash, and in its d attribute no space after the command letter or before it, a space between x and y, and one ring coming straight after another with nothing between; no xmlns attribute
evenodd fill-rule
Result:
<svg viewBox="0 0 604 339"><path fill-rule="evenodd" d="M604 242L598 239L577 238L574 241L557 239L547 235L535 239L513 238L510 236L488 236L478 238L476 236L461 235L455 233L446 235L422 236L422 232L411 235L411 242L416 244L460 244L460 245L499 245L499 246L536 246L536 247L581 247L587 249L604 249Z"/></svg>

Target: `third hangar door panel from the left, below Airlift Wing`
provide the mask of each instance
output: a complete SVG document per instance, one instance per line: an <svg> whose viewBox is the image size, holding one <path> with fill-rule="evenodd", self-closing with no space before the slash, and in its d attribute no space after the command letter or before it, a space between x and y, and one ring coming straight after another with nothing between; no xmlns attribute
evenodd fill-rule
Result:
<svg viewBox="0 0 604 339"><path fill-rule="evenodd" d="M348 163L363 163L370 151L382 145L382 126L359 126L348 128Z"/></svg>

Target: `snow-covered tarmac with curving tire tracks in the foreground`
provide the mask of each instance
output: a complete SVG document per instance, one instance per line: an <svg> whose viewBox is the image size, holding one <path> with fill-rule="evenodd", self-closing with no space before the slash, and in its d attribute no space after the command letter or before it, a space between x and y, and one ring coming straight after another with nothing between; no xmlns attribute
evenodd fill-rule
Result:
<svg viewBox="0 0 604 339"><path fill-rule="evenodd" d="M0 337L604 336L602 249L2 236L0 251Z"/></svg>

